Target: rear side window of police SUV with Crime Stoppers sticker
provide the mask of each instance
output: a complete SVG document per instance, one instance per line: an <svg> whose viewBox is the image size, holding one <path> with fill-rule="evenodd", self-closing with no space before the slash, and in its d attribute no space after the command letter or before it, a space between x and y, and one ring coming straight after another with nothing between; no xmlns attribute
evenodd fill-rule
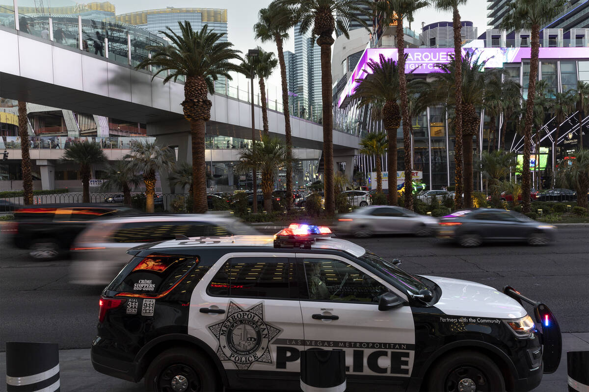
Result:
<svg viewBox="0 0 589 392"><path fill-rule="evenodd" d="M135 257L108 290L120 295L163 297L183 280L198 263L197 257L150 254Z"/></svg>

